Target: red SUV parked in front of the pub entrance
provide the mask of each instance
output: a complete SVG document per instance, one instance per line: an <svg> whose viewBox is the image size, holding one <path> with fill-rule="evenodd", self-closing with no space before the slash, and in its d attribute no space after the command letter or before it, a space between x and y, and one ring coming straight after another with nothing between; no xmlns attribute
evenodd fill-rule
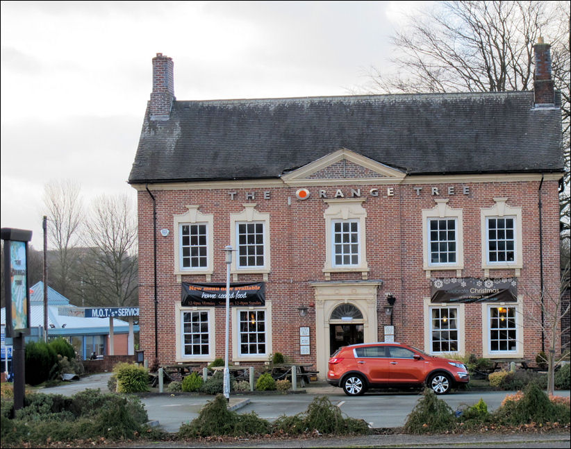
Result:
<svg viewBox="0 0 571 449"><path fill-rule="evenodd" d="M358 396L370 388L422 385L436 394L446 394L468 380L466 367L457 360L433 357L400 343L343 346L329 359L327 371L327 382L342 387L347 396Z"/></svg>

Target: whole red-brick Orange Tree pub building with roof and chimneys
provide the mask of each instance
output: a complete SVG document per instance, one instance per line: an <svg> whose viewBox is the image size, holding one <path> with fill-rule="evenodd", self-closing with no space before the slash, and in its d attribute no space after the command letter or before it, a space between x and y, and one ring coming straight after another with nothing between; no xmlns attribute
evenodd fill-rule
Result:
<svg viewBox="0 0 571 449"><path fill-rule="evenodd" d="M279 352L326 374L336 348L534 362L559 288L561 97L534 92L179 101L153 91L138 191L140 345L161 364ZM537 320L536 320L537 319Z"/></svg>

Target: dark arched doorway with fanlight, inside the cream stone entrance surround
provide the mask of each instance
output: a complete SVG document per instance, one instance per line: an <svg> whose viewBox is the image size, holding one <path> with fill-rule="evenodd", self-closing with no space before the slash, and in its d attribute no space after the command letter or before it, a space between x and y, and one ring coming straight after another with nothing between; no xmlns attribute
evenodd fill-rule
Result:
<svg viewBox="0 0 571 449"><path fill-rule="evenodd" d="M329 318L329 355L342 346L364 342L363 314L352 304L338 305Z"/></svg>

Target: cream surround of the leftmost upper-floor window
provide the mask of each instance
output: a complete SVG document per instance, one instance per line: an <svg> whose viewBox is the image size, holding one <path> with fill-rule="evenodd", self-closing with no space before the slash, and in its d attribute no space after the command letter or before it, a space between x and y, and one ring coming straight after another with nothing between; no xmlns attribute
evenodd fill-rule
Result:
<svg viewBox="0 0 571 449"><path fill-rule="evenodd" d="M206 275L206 281L210 282L210 278L214 272L214 215L203 214L199 212L199 205L186 205L187 212L173 216L174 229L174 274L177 282L181 282L181 276L192 274ZM206 266L204 267L187 267L183 264L183 248L182 248L182 227L185 225L206 225Z"/></svg>

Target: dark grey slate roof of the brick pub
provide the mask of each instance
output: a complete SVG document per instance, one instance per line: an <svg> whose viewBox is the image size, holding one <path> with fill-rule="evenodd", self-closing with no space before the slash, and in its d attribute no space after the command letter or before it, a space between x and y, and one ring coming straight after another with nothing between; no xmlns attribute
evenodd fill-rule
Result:
<svg viewBox="0 0 571 449"><path fill-rule="evenodd" d="M129 183L279 178L338 149L410 175L563 170L533 92L174 101L144 117Z"/></svg>

